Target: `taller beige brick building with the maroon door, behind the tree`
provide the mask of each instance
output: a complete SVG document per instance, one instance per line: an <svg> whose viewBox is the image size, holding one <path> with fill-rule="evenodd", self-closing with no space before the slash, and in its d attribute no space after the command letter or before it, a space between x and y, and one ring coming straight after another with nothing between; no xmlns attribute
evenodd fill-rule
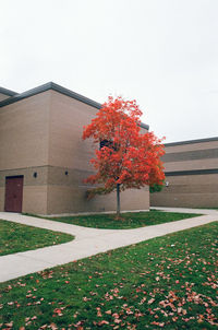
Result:
<svg viewBox="0 0 218 330"><path fill-rule="evenodd" d="M86 199L100 104L52 82L22 94L0 89L0 211L36 214L116 210L116 196ZM142 130L148 127L142 125ZM149 209L148 188L121 193L122 210Z"/></svg>

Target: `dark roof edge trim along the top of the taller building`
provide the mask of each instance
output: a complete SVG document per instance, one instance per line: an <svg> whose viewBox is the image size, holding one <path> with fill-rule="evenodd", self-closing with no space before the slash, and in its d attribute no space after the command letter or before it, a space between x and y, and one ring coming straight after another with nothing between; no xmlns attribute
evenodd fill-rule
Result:
<svg viewBox="0 0 218 330"><path fill-rule="evenodd" d="M4 90L4 89L2 89L2 90ZM95 101L93 101L90 98L87 98L87 97L85 97L85 96L83 96L81 94L77 94L77 93L75 93L75 92L73 92L71 90L68 90L65 87L62 87L61 85L58 85L58 84L56 84L53 82L48 82L48 83L46 83L44 85L40 85L40 86L35 87L35 89L32 89L32 90L26 91L26 92L21 93L21 94L16 94L15 92L10 91L10 92L12 92L14 94L11 95L11 97L9 97L9 98L3 99L2 102L0 102L0 108L3 107L3 106L7 106L9 104L19 102L21 99L24 99L24 98L37 95L37 94L46 92L46 91L49 91L49 90L59 92L59 93L64 94L66 96L70 96L70 97L72 97L74 99L77 99L77 101L83 102L83 103L85 103L87 105L90 105L90 106L93 106L93 107L95 107L97 109L101 108L101 104L100 103L95 102ZM9 91L9 90L7 90L7 91ZM9 94L7 94L7 95L9 95ZM141 122L141 127L145 128L147 130L149 129L149 126L146 125L146 123L143 123L143 122Z"/></svg>

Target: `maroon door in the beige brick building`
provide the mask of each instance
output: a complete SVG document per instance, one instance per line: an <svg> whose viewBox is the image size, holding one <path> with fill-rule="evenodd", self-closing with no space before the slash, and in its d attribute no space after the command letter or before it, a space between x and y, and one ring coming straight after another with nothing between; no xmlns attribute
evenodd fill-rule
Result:
<svg viewBox="0 0 218 330"><path fill-rule="evenodd" d="M4 211L22 212L23 181L23 176L7 177Z"/></svg>

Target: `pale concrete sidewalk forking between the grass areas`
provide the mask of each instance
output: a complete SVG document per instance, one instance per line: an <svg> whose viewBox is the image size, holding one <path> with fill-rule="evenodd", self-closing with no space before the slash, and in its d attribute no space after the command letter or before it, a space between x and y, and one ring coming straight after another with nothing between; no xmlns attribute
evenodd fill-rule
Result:
<svg viewBox="0 0 218 330"><path fill-rule="evenodd" d="M204 215L135 229L96 229L17 213L0 212L0 219L7 221L75 236L74 240L65 244L0 257L0 282L218 220L218 212L214 210L155 209Z"/></svg>

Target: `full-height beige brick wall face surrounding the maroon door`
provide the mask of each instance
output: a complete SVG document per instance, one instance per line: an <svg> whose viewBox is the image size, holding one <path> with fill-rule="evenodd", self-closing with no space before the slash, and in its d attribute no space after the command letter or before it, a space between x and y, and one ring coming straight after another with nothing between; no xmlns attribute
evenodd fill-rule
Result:
<svg viewBox="0 0 218 330"><path fill-rule="evenodd" d="M49 107L50 91L0 108L0 211L5 177L23 175L23 212L46 213Z"/></svg>

